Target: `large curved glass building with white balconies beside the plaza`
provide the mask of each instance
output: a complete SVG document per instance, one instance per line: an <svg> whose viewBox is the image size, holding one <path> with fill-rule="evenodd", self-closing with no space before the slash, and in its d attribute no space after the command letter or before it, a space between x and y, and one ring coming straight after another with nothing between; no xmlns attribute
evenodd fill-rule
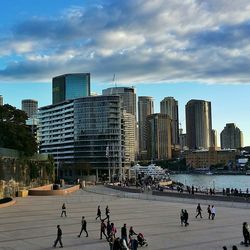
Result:
<svg viewBox="0 0 250 250"><path fill-rule="evenodd" d="M90 96L39 109L40 152L52 154L61 178L121 176L121 98ZM108 171L109 170L109 171Z"/></svg>

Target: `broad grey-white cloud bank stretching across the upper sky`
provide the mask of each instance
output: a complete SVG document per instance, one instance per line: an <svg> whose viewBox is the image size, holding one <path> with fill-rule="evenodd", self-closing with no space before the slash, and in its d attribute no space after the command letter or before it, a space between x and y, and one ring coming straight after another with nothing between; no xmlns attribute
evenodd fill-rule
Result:
<svg viewBox="0 0 250 250"><path fill-rule="evenodd" d="M48 80L66 72L113 73L120 82L247 83L247 0L95 1L36 16L0 35L0 79ZM18 60L16 60L16 56Z"/></svg>

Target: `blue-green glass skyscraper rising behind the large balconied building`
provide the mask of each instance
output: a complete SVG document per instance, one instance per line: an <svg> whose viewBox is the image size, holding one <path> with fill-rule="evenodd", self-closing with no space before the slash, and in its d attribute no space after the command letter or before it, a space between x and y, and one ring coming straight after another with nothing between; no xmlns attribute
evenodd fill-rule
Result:
<svg viewBox="0 0 250 250"><path fill-rule="evenodd" d="M52 103L90 96L90 73L74 73L52 79Z"/></svg>

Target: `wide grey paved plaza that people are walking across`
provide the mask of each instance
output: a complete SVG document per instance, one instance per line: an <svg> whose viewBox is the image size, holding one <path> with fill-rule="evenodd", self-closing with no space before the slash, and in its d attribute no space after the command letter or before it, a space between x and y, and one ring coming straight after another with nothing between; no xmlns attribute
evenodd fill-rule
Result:
<svg viewBox="0 0 250 250"><path fill-rule="evenodd" d="M121 192L103 186L89 187L68 196L17 198L16 205L0 209L0 249L36 250L52 249L58 224L63 231L64 249L108 250L105 240L100 240L100 222L95 220L97 205L103 214L106 205L111 210L111 222L115 223L120 235L124 223L127 227L142 232L148 240L148 250L165 249L222 249L226 245L239 249L242 240L242 222L250 222L250 210L239 204L216 203L216 218L207 219L207 205L201 201L203 219L195 218L196 201L176 200L153 201L118 197ZM122 196L122 195L121 195ZM129 196L128 196L129 197ZM146 198L146 196L145 196ZM68 217L60 217L62 203L66 203ZM191 204L193 202L193 204ZM195 203L194 203L195 202ZM212 203L211 203L212 204ZM190 226L180 226L179 214L184 208L189 212ZM85 216L89 237L81 228L81 217Z"/></svg>

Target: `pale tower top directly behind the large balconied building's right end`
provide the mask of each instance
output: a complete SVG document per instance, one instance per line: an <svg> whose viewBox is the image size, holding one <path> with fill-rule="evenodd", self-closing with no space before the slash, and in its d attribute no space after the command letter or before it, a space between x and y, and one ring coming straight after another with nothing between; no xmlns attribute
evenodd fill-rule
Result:
<svg viewBox="0 0 250 250"><path fill-rule="evenodd" d="M114 87L102 91L103 95L119 95L122 99L122 108L135 116L136 120L136 92L132 87Z"/></svg>

